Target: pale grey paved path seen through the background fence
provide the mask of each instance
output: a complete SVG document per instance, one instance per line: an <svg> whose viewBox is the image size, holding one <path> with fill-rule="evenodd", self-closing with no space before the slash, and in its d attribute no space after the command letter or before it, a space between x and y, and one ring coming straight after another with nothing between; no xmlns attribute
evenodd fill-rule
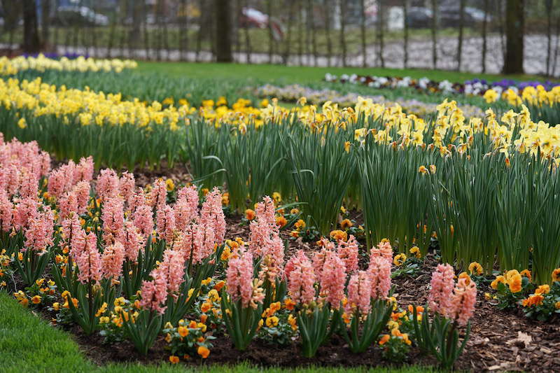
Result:
<svg viewBox="0 0 560 373"><path fill-rule="evenodd" d="M556 37L552 39L552 53L554 53L554 48L556 46ZM505 43L505 41L504 41ZM8 45L1 45L1 48L7 48ZM440 38L437 43L437 69L456 69L456 48L457 39L456 38ZM531 35L525 36L525 46L524 46L524 69L526 73L531 74L542 74L546 71L546 57L547 57L547 38L544 35ZM482 50L482 38L465 38L463 40L463 63L461 66L461 71L470 71L477 73L482 71L481 62L481 50ZM486 72L487 73L500 73L503 65L503 47L500 43L499 36L491 36L487 38L487 53L486 53ZM65 47L64 45L59 45L57 47L57 52L59 54L64 53L78 53L90 55L92 57L107 57L107 48L84 48L84 47ZM367 48L367 65L368 66L379 66L377 61L377 48L371 45ZM111 49L111 57L126 57L134 59L164 59L170 61L203 61L210 62L213 57L210 52L200 52L197 57L195 52L181 52L179 50L161 50L158 53L155 50L121 50L120 48ZM384 59L385 66L390 68L401 69L403 66L404 50L402 48L402 43L388 43L384 49ZM234 53L234 58L236 62L246 63L247 56L246 53ZM274 63L283 63L283 59L280 55L274 55ZM351 55L347 57L347 64L349 66L362 66L363 57L361 53L359 55ZM426 39L412 39L409 41L409 64L408 67L413 68L432 68L432 43ZM252 53L251 62L256 64L262 64L269 62L267 53ZM328 66L327 57L318 57L317 61L311 55L303 56L290 56L288 58L288 64L299 65L304 64L307 66ZM340 57L332 57L330 60L332 66L341 66L342 60ZM551 61L552 65L552 61ZM556 69L554 69L554 75L560 76L560 56L556 61Z"/></svg>

